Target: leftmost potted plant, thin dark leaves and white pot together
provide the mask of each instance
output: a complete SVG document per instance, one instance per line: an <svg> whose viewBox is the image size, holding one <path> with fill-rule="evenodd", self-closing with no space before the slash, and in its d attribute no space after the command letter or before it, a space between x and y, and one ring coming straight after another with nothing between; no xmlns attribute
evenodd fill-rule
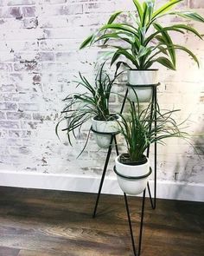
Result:
<svg viewBox="0 0 204 256"><path fill-rule="evenodd" d="M111 79L110 75L105 72L104 67L105 62L101 65L95 77L94 85L88 82L86 77L80 73L80 81L77 82L77 87L80 86L81 90L86 89L86 92L67 95L64 99L67 105L61 111L62 117L56 125L56 134L58 135L61 121L66 120L67 127L63 128L62 131L67 132L70 145L72 145L71 134L75 137L76 130L80 133L81 127L89 120L92 121L92 131L100 148L108 148L111 134L118 132L118 115L110 112L109 105L112 85L119 74L115 74ZM89 134L86 143L88 137Z"/></svg>

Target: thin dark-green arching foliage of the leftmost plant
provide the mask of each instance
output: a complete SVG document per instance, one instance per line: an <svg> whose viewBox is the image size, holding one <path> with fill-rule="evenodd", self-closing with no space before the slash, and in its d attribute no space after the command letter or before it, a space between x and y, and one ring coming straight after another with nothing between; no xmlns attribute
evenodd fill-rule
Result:
<svg viewBox="0 0 204 256"><path fill-rule="evenodd" d="M61 120L55 128L56 135L58 135L61 122L67 121L67 127L63 128L62 131L67 132L68 141L72 146L71 134L76 137L75 132L79 131L80 133L83 124L92 117L100 121L112 120L114 116L110 113L110 96L112 95L112 85L118 75L120 74L115 74L111 78L105 72L105 62L100 66L93 84L88 82L86 77L80 73L80 80L76 81L77 87L85 89L86 92L67 95L63 100L66 102L66 107L61 111Z"/></svg>

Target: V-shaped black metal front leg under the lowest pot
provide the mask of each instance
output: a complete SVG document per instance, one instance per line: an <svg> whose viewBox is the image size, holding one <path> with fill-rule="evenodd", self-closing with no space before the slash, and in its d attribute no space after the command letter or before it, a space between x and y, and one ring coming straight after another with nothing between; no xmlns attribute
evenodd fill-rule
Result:
<svg viewBox="0 0 204 256"><path fill-rule="evenodd" d="M132 244L134 256L139 256L141 253L142 238L143 238L143 213L144 213L144 204L145 204L145 193L146 193L146 189L144 189L144 191L143 191L143 203L142 203L142 213L141 213L141 220L140 220L138 251L135 246L134 235L132 232L131 214L130 214L130 210L129 210L129 206L128 206L128 200L127 200L126 194L124 193L124 201L125 201L125 207L126 207L128 223L129 223L129 228L130 228L130 233L131 233L131 244Z"/></svg>

